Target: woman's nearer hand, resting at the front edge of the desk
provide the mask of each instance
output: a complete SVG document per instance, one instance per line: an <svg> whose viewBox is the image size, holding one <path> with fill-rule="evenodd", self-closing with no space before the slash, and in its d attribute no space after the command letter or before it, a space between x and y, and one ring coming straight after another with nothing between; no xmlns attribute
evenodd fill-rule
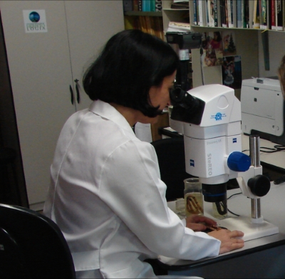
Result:
<svg viewBox="0 0 285 279"><path fill-rule="evenodd" d="M227 229L221 229L219 231L212 231L208 234L209 236L217 238L219 241L221 241L219 254L227 253L229 251L244 247L244 240L237 238L244 236L242 231L229 231Z"/></svg>

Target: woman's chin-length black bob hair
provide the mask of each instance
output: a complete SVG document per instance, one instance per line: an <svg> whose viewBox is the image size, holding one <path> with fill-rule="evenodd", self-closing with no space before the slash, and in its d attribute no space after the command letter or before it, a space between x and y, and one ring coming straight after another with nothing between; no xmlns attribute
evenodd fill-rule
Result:
<svg viewBox="0 0 285 279"><path fill-rule="evenodd" d="M83 77L91 100L114 102L140 110L148 117L160 114L150 104L149 91L177 70L179 58L160 38L140 30L115 34Z"/></svg>

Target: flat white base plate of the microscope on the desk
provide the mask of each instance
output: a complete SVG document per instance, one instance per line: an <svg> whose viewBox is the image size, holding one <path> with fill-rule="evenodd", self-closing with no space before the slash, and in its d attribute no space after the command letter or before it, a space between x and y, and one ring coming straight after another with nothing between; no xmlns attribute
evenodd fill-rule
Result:
<svg viewBox="0 0 285 279"><path fill-rule="evenodd" d="M224 220L217 220L218 226L229 229L230 231L238 230L244 232L244 241L251 241L253 239L264 236L271 236L279 233L279 228L272 223L263 221L262 223L252 223L249 217L230 217Z"/></svg>

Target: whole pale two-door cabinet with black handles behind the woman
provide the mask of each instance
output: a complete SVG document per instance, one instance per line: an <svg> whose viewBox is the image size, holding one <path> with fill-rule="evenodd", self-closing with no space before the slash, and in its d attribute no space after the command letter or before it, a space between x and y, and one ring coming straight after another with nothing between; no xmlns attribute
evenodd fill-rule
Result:
<svg viewBox="0 0 285 279"><path fill-rule="evenodd" d="M88 107L84 70L123 30L122 1L0 1L21 155L31 209L41 209L56 141L67 118ZM44 10L48 31L26 33L23 10ZM79 80L77 102L74 80ZM70 87L75 93L71 104Z"/></svg>

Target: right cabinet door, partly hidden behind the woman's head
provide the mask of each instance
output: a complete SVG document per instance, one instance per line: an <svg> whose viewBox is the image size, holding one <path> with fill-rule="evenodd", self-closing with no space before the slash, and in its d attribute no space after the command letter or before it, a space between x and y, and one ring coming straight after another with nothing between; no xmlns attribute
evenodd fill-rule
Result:
<svg viewBox="0 0 285 279"><path fill-rule="evenodd" d="M82 110L91 102L83 90L83 74L106 41L124 29L123 3L118 0L65 1L65 6L73 81L79 80L80 88L76 110Z"/></svg>

